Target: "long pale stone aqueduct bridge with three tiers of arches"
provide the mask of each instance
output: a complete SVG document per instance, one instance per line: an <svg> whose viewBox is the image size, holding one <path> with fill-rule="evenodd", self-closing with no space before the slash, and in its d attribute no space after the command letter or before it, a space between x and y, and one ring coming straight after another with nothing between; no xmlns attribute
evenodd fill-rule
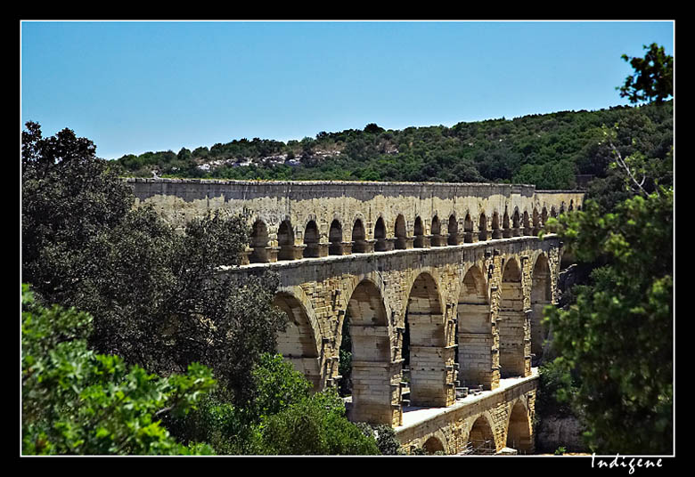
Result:
<svg viewBox="0 0 695 477"><path fill-rule="evenodd" d="M532 359L542 352L542 309L557 300L561 254L556 236L537 233L547 217L581 208L582 192L508 184L128 182L138 203L179 224L217 208L250 214L247 260L227 272L279 274L275 303L290 323L278 351L316 390L341 377L349 318L352 420L395 427L406 449L533 450ZM485 391L462 398L464 387Z"/></svg>

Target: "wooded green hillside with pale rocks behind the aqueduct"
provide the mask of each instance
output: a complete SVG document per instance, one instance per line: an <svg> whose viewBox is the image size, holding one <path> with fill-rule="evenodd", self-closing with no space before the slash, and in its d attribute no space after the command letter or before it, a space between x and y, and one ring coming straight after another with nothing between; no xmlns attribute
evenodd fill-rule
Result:
<svg viewBox="0 0 695 477"><path fill-rule="evenodd" d="M605 178L611 147L665 159L673 144L673 101L598 111L385 130L321 132L301 141L253 138L118 159L131 176L241 180L514 182L572 189L577 175ZM581 184L580 184L581 185Z"/></svg>

